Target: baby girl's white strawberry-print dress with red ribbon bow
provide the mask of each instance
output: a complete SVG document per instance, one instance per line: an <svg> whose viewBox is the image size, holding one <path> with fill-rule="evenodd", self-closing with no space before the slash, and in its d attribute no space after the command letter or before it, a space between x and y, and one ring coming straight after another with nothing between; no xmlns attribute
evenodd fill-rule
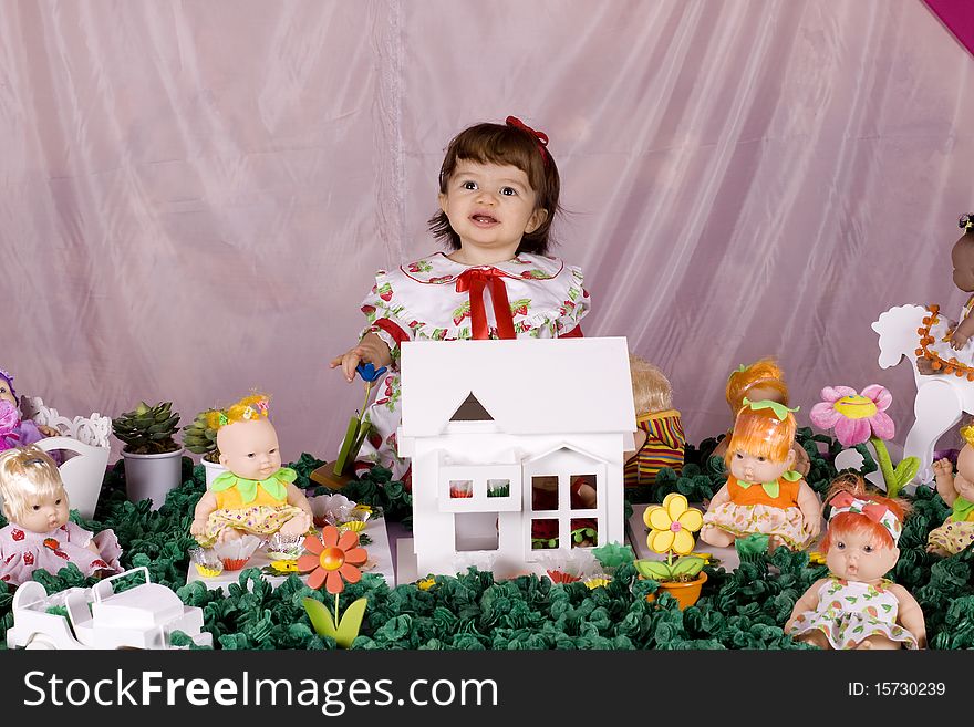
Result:
<svg viewBox="0 0 974 727"><path fill-rule="evenodd" d="M394 479L408 469L395 440L403 341L579 336L589 302L579 268L524 252L494 266L465 266L436 252L376 272L362 301L367 321L362 335L372 332L385 341L393 362L376 384L365 417L372 429L359 459L391 469Z"/></svg>

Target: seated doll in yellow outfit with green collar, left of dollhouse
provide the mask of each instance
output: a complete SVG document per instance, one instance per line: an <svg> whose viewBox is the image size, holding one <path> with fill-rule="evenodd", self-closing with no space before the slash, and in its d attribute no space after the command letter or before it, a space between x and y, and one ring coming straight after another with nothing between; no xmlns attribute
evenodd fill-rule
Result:
<svg viewBox="0 0 974 727"><path fill-rule="evenodd" d="M269 398L253 394L208 415L217 432L217 477L194 510L189 532L201 546L246 533L301 536L311 529L308 498L294 485L297 472L281 466L278 435L268 418Z"/></svg>

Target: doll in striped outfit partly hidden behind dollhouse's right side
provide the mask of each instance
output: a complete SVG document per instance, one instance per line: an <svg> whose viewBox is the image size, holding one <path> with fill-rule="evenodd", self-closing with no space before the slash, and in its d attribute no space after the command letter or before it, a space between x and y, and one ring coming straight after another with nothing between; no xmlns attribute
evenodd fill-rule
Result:
<svg viewBox="0 0 974 727"><path fill-rule="evenodd" d="M635 404L635 445L625 464L624 484L632 489L656 482L663 467L683 469L686 437L680 412L673 408L670 380L656 366L635 354L629 355L632 398Z"/></svg>

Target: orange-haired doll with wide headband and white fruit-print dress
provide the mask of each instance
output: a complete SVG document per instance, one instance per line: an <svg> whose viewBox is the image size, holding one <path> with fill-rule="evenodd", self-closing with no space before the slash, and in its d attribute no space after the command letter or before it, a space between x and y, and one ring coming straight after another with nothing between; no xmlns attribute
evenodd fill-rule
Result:
<svg viewBox="0 0 974 727"><path fill-rule="evenodd" d="M908 502L867 492L858 475L832 481L822 539L829 574L798 599L785 633L819 648L923 648L923 611L885 579L900 558Z"/></svg>

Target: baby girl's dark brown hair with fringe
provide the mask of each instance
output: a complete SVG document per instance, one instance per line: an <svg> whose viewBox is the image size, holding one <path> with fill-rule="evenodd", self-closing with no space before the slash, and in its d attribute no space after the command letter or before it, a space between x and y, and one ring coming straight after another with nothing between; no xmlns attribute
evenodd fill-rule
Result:
<svg viewBox="0 0 974 727"><path fill-rule="evenodd" d="M509 117L507 124L476 124L457 134L447 146L439 168L439 191L446 194L459 159L517 167L528 176L528 183L537 195L537 208L548 210L548 217L538 229L526 232L521 238L517 252L545 255L551 241L551 221L559 209L561 180L555 159L539 136L512 118ZM429 231L452 249L460 249L460 238L450 227L446 212L441 211L429 218Z"/></svg>

